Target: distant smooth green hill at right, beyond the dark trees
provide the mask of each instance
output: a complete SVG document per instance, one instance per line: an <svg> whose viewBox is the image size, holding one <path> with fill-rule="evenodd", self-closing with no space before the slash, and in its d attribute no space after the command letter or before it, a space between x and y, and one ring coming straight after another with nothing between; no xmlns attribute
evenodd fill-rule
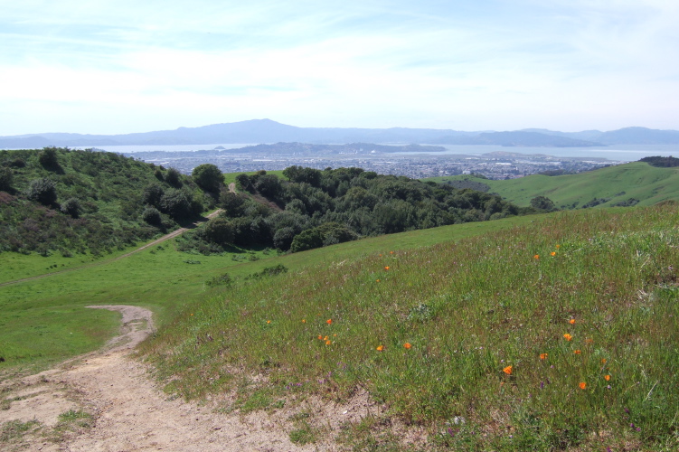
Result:
<svg viewBox="0 0 679 452"><path fill-rule="evenodd" d="M595 171L561 176L533 174L507 181L490 181L469 176L432 177L427 180L469 178L489 185L490 191L499 193L507 201L528 206L535 196L547 196L557 207L580 206L593 198L611 198L606 204L636 198L639 206L652 205L665 200L679 200L679 168L655 168L635 162L608 166ZM625 192L625 194L618 194Z"/></svg>

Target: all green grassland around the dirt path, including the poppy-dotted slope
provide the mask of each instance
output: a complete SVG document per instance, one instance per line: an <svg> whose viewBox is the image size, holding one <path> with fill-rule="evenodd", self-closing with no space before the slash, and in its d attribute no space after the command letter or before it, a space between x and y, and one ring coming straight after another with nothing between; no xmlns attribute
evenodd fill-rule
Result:
<svg viewBox="0 0 679 452"><path fill-rule="evenodd" d="M0 374L98 348L119 316L85 306L131 304L155 313L138 356L165 391L285 407L298 444L401 450L414 429L440 450L675 450L678 220L664 202L285 255L174 240L124 259L3 253ZM360 391L373 412L339 429L305 409Z"/></svg>

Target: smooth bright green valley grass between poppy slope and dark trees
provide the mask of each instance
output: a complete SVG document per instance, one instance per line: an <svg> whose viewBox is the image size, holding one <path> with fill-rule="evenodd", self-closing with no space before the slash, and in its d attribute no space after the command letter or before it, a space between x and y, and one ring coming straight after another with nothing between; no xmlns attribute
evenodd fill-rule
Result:
<svg viewBox="0 0 679 452"><path fill-rule="evenodd" d="M245 277L281 263L292 270L325 266L385 248L416 247L454 240L482 231L497 231L538 217L467 223L426 231L411 231L345 243L278 258L262 251L226 256L200 256L174 250L171 241L129 258L62 258L37 254L0 254L0 283L67 270L46 278L0 287L0 356L2 367L52 363L103 344L118 328L117 313L83 309L96 304L133 304L156 313L163 325L177 310L204 297L204 282L224 272ZM250 256L260 260L250 261ZM237 260L234 260L237 259ZM200 261L189 264L185 261Z"/></svg>

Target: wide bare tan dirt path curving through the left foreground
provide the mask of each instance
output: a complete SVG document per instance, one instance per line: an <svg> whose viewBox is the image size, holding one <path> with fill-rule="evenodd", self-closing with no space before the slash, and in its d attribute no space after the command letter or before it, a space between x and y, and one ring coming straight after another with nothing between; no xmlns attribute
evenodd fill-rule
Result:
<svg viewBox="0 0 679 452"><path fill-rule="evenodd" d="M290 442L284 431L285 417L219 414L171 400L149 380L145 365L127 356L153 331L151 312L137 306L89 307L119 311L121 334L102 351L80 356L58 369L0 383L0 400L11 401L8 409L0 410L0 425L19 421L30 426L16 438L0 436L0 450L316 449Z"/></svg>

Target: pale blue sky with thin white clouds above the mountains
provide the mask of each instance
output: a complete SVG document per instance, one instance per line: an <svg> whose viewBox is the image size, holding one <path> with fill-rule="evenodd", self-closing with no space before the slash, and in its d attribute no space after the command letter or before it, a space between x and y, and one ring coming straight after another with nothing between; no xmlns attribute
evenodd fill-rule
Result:
<svg viewBox="0 0 679 452"><path fill-rule="evenodd" d="M0 0L0 136L679 129L676 0Z"/></svg>

